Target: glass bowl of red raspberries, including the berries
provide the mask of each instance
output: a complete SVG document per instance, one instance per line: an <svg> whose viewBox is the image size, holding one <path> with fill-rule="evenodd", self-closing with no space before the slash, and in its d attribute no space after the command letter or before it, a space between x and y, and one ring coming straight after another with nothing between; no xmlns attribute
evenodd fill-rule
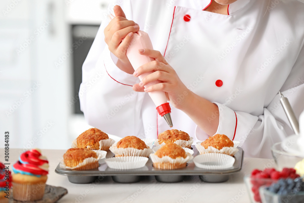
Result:
<svg viewBox="0 0 304 203"><path fill-rule="evenodd" d="M260 195L260 188L270 187L280 179L292 179L295 180L300 176L296 174L293 168L283 168L282 171L277 171L274 168L266 168L264 170L255 169L250 175L244 177L247 191L252 203L262 202Z"/></svg>

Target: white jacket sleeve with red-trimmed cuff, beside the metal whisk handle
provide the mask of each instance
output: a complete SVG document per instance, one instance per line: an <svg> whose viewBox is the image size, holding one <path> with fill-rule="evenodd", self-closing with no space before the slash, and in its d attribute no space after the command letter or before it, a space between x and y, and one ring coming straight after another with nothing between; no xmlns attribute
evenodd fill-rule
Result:
<svg viewBox="0 0 304 203"><path fill-rule="evenodd" d="M288 78L280 89L288 98L298 119L304 109L303 56L304 48L300 51ZM216 134L225 134L232 140L240 141L239 146L247 149L245 151L247 157L272 158L271 146L294 134L278 94L264 107L264 114L259 116L234 111L225 104L216 103L216 105L219 107L219 126ZM196 137L205 140L209 136L197 127Z"/></svg>

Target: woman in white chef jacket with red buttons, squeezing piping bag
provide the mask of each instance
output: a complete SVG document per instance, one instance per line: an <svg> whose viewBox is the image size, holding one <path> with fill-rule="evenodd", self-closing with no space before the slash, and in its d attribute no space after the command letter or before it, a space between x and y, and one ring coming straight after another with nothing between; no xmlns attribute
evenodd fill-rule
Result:
<svg viewBox="0 0 304 203"><path fill-rule="evenodd" d="M116 17L103 21L82 68L79 97L89 124L120 137L157 138L169 127L145 92L162 90L174 128L196 141L225 134L241 142L245 156L266 158L273 143L292 134L278 91L299 116L304 108L300 0L117 2L122 9L115 6ZM134 72L125 53L139 29L149 34L155 50L139 53L156 62ZM140 83L138 75L151 70ZM96 74L102 78L90 85ZM162 83L143 88L156 79Z"/></svg>

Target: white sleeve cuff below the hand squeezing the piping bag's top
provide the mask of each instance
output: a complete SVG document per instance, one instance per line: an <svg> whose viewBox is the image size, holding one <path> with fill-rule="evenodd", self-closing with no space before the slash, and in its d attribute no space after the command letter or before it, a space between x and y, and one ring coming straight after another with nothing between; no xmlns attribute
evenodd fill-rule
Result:
<svg viewBox="0 0 304 203"><path fill-rule="evenodd" d="M128 85L128 86L133 86L136 83L140 82L138 78L120 70L116 66L115 61L117 62L118 59L109 51L107 47L105 48L103 54L104 54L103 58L104 58L105 70L113 80L115 80L120 84Z"/></svg>

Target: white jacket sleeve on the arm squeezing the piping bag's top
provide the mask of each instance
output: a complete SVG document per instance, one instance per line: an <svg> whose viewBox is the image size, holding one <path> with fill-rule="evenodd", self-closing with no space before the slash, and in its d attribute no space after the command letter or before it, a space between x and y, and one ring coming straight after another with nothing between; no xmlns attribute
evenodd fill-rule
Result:
<svg viewBox="0 0 304 203"><path fill-rule="evenodd" d="M109 13L114 13L114 5L120 5L126 17L132 19L130 1L112 1ZM144 93L132 89L139 79L116 66L117 58L104 41L103 31L108 23L109 19L102 21L82 66L80 108L88 124L102 131L121 137L136 135L142 128L140 109Z"/></svg>

